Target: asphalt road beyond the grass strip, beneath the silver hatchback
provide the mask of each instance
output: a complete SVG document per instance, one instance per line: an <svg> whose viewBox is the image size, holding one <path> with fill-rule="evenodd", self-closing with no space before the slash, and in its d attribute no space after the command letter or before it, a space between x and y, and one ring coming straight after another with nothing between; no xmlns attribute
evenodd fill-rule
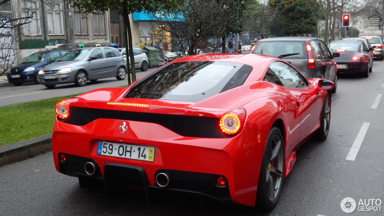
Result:
<svg viewBox="0 0 384 216"><path fill-rule="evenodd" d="M147 75L157 68L149 68L147 71L136 71L136 78ZM109 88L128 85L127 78L118 80L116 77L104 78L92 83L88 81L86 86L76 87L74 84L56 85L55 88L49 89L44 85L36 85L35 83L23 84L21 86L2 86L0 87L0 106L8 106L18 103L25 103L47 98L55 98L66 95L74 95L94 90L96 88Z"/></svg>

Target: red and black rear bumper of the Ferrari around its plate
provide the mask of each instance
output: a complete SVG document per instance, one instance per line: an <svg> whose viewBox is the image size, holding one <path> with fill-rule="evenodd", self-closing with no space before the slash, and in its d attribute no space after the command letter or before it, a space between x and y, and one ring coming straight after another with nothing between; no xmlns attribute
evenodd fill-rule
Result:
<svg viewBox="0 0 384 216"><path fill-rule="evenodd" d="M144 188L147 196L152 189L160 189L255 205L265 133L243 128L232 138L195 138L178 135L154 123L126 121L128 128L120 135L121 122L98 119L77 126L56 121L52 136L56 169L70 176L104 180L107 190L124 182L133 188ZM97 155L99 140L155 147L154 161ZM60 162L62 153L69 155L66 164ZM97 164L99 173L91 176L85 172L84 165L89 161ZM156 183L156 175L162 171L173 179L167 187ZM129 182L124 176L140 178ZM219 187L215 183L218 176L224 176L227 185Z"/></svg>

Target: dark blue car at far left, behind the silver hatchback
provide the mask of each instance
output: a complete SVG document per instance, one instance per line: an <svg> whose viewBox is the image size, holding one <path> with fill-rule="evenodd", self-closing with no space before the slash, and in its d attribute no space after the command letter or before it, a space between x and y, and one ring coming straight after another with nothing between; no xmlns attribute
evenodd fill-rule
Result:
<svg viewBox="0 0 384 216"><path fill-rule="evenodd" d="M7 73L8 83L16 86L31 82L40 84L38 71L67 52L67 50L45 50L29 55L21 64L13 66L10 73Z"/></svg>

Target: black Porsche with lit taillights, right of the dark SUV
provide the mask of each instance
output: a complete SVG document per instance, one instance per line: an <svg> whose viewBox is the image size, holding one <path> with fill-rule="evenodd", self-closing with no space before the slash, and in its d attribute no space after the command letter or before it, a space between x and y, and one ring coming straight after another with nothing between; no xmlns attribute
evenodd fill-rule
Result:
<svg viewBox="0 0 384 216"><path fill-rule="evenodd" d="M334 40L328 44L331 53L340 53L334 58L339 73L361 73L368 77L372 72L372 60L369 53L374 48L367 48L361 40Z"/></svg>

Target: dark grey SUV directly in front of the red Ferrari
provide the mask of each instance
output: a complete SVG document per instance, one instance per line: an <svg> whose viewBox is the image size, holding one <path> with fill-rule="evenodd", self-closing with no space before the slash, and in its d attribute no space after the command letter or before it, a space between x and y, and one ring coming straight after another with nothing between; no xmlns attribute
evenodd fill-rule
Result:
<svg viewBox="0 0 384 216"><path fill-rule="evenodd" d="M320 77L334 82L332 93L337 89L337 66L333 61L339 53L329 52L319 38L276 37L258 40L250 53L269 55L288 61L307 78Z"/></svg>

